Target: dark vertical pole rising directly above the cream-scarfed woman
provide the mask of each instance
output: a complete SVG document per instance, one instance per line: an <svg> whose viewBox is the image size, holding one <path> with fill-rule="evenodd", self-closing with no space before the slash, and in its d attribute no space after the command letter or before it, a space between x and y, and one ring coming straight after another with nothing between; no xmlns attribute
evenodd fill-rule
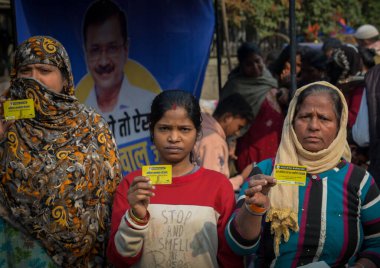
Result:
<svg viewBox="0 0 380 268"><path fill-rule="evenodd" d="M290 36L290 96L292 97L297 89L296 80L296 1L289 1L289 36Z"/></svg>

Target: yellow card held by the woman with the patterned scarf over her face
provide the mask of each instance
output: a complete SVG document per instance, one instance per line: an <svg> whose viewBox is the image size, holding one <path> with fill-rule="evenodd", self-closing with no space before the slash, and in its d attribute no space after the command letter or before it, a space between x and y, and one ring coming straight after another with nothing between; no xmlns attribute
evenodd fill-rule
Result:
<svg viewBox="0 0 380 268"><path fill-rule="evenodd" d="M8 100L4 102L5 120L16 120L24 118L34 118L33 99Z"/></svg>

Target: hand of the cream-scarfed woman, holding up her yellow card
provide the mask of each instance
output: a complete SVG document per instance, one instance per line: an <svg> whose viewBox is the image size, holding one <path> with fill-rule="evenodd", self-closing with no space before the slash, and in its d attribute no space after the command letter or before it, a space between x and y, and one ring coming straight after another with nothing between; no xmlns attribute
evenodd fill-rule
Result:
<svg viewBox="0 0 380 268"><path fill-rule="evenodd" d="M264 174L256 174L248 181L248 188L245 190L245 202L248 205L259 207L269 207L268 193L270 188L276 185L276 179Z"/></svg>

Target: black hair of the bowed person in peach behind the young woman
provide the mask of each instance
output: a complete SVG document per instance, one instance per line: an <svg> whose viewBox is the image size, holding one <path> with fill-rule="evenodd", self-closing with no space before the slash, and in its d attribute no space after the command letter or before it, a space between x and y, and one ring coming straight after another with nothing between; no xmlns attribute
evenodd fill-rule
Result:
<svg viewBox="0 0 380 268"><path fill-rule="evenodd" d="M218 118L226 113L232 116L239 116L246 119L248 122L253 120L251 105L239 93L234 93L222 99L216 107L213 116Z"/></svg>

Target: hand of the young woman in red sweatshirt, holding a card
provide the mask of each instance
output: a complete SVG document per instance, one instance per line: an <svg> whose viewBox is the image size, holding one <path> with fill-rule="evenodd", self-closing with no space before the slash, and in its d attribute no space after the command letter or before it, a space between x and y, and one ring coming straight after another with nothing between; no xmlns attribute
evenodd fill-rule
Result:
<svg viewBox="0 0 380 268"><path fill-rule="evenodd" d="M133 214L143 219L147 214L147 208L150 203L150 197L154 196L152 190L155 187L150 183L150 179L143 176L137 176L133 179L128 190L128 202Z"/></svg>

